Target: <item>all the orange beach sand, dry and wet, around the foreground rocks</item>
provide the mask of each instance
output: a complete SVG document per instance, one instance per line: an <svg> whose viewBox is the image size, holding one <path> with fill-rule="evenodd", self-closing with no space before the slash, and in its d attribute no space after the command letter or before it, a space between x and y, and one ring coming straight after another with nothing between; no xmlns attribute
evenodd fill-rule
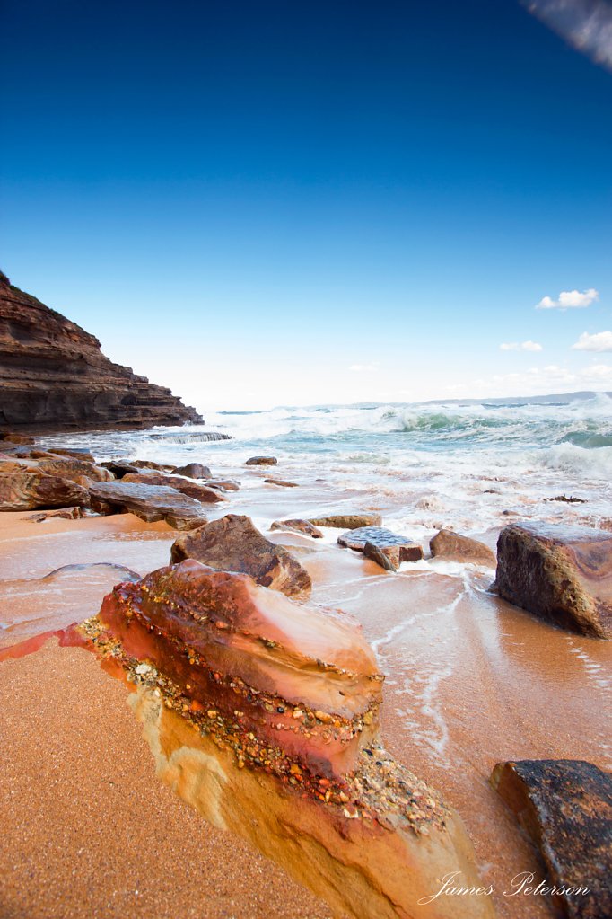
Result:
<svg viewBox="0 0 612 919"><path fill-rule="evenodd" d="M299 516L312 502L312 495L292 489L276 499L278 507L276 489L259 482L253 486L249 508L243 491L239 508L232 503L221 513L250 509L261 526L263 519ZM289 506L291 514L285 510ZM77 560L124 564L144 573L168 561L175 535L163 524L142 524L131 515L45 524L23 521L25 516L0 515L0 578L30 580L34 593L42 592L39 609L48 605L53 628L68 624L74 605L61 607L61 592L50 595L44 582L34 584L36 579ZM384 743L460 812L484 883L495 887L498 914L508 919L555 915L543 898L504 896L521 871L540 879L540 864L487 779L495 762L505 759L584 758L610 767L605 723L610 643L553 629L486 593L491 571L423 562L394 575L327 541L282 531L267 535L292 547L306 566L316 602L341 607L362 621L387 677ZM80 618L96 610L101 590L101 584L94 589L83 581ZM14 638L26 613L27 608L13 612ZM25 624L23 629L27 637ZM8 853L2 883L12 910L0 912L3 919L327 914L279 868L239 840L211 830L161 788L125 705L125 687L103 674L89 654L47 646L1 664L0 680L8 700L2 733L9 739L3 754L10 777L2 806ZM111 774L117 782L106 788ZM109 790L117 786L120 796ZM159 823L157 808L163 814ZM257 878L260 886L255 884L253 892L250 885ZM138 896L129 886L132 879L138 881L132 885ZM78 897L72 897L77 889L72 885ZM41 912L49 891L55 899ZM115 891L113 899L109 891ZM62 897L78 900L79 909L86 904L88 911L62 911ZM116 903L117 912L109 912ZM172 912L164 912L171 906Z"/></svg>

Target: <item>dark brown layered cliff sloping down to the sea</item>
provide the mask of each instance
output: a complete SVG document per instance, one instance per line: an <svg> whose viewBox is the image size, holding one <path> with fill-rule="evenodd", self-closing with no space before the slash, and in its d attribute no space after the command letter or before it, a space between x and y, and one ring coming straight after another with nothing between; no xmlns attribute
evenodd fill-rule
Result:
<svg viewBox="0 0 612 919"><path fill-rule="evenodd" d="M201 423L169 389L102 354L100 342L0 272L0 428L87 430Z"/></svg>

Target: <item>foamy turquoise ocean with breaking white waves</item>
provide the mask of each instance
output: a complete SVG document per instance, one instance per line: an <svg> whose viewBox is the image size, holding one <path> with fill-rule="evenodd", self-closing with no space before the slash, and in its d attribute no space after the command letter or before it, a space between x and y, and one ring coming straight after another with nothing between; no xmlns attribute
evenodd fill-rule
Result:
<svg viewBox="0 0 612 919"><path fill-rule="evenodd" d="M231 439L208 442L210 431ZM333 510L341 495L342 503L383 511L387 525L416 539L440 527L484 533L518 516L612 528L612 399L605 393L560 404L217 412L206 414L204 428L66 434L43 441L91 448L98 459L205 462L215 474L242 481L232 509L248 507L264 473L293 478L303 486L300 513ZM278 466L245 469L245 460L257 454L273 455ZM547 500L562 496L578 500ZM273 502L270 514L263 510L262 516L275 516Z"/></svg>

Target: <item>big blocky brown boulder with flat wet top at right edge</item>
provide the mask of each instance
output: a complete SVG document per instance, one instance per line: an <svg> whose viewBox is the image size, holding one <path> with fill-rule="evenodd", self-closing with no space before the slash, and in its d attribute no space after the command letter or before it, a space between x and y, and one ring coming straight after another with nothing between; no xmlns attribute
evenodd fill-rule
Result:
<svg viewBox="0 0 612 919"><path fill-rule="evenodd" d="M497 541L495 589L562 629L612 633L612 534L586 527L512 524Z"/></svg>

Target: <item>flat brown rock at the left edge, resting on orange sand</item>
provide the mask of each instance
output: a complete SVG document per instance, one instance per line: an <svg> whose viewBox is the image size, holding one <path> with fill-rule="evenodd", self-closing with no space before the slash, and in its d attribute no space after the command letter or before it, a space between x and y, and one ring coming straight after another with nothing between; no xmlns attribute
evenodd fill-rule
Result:
<svg viewBox="0 0 612 919"><path fill-rule="evenodd" d="M37 507L87 507L86 489L69 479L42 472L0 472L0 511Z"/></svg>

